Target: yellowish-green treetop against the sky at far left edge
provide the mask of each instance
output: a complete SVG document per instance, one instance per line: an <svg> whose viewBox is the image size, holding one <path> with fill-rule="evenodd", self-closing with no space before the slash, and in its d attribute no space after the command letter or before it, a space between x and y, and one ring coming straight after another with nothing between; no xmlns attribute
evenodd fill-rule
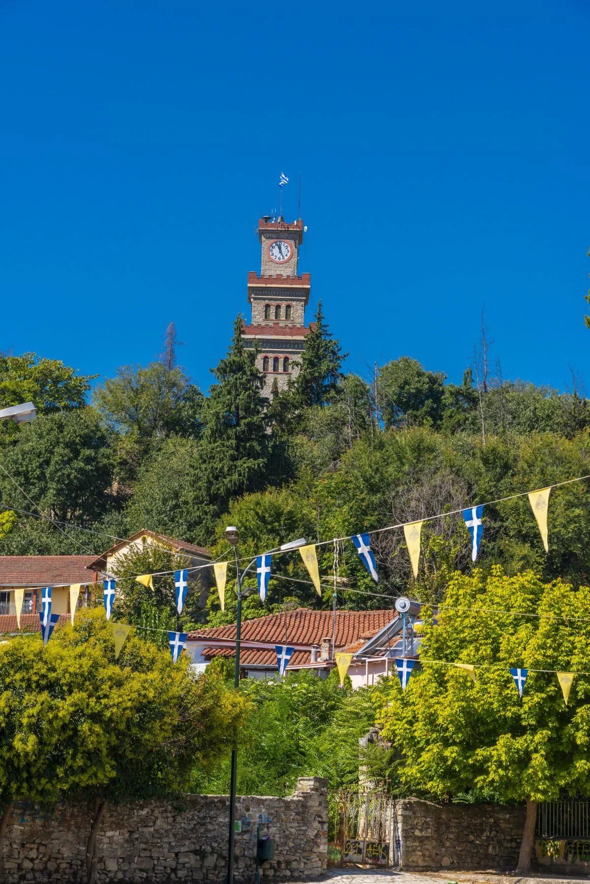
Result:
<svg viewBox="0 0 590 884"><path fill-rule="evenodd" d="M0 408L23 402L33 402L40 412L82 408L95 377L35 353L0 354Z"/></svg>

